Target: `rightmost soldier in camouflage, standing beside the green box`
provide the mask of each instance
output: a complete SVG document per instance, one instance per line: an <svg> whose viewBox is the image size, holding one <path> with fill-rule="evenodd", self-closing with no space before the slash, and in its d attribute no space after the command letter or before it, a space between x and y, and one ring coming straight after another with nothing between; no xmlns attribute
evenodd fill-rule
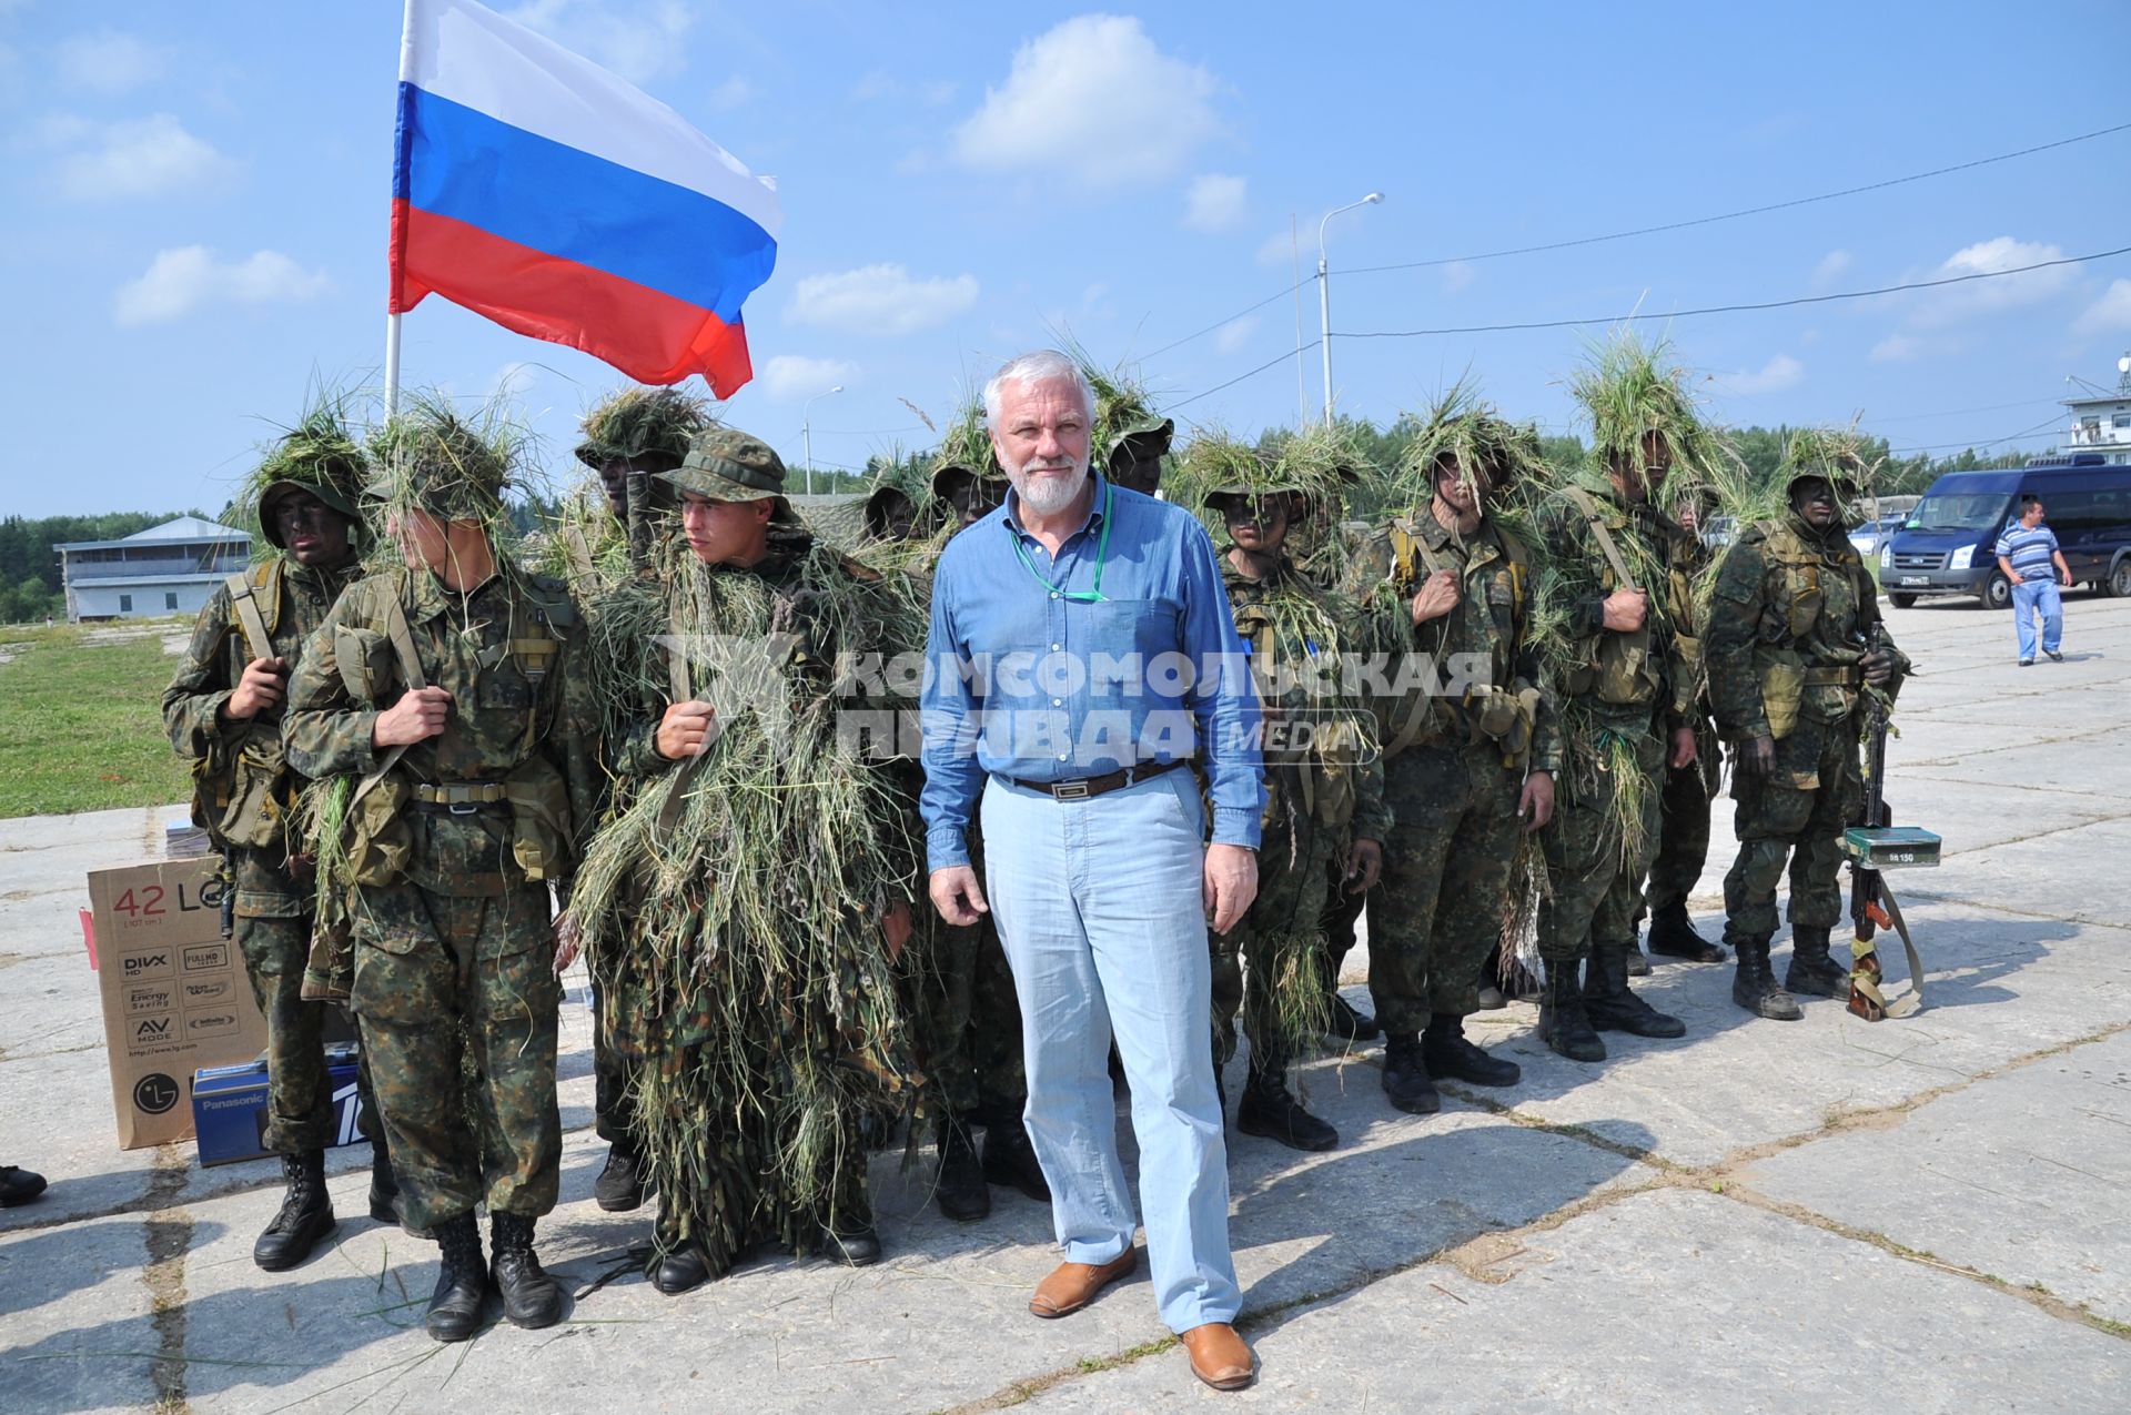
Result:
<svg viewBox="0 0 2131 1415"><path fill-rule="evenodd" d="M1850 991L1828 933L1841 921L1843 827L1862 812L1858 739L1871 697L1892 701L1909 671L1841 514L1867 471L1854 435L1792 433L1777 469L1788 511L1741 531L1709 607L1709 697L1735 744L1739 803L1739 857L1724 876L1733 999L1779 1021L1803 1014L1792 993ZM1769 940L1786 861L1792 946L1777 987Z"/></svg>

